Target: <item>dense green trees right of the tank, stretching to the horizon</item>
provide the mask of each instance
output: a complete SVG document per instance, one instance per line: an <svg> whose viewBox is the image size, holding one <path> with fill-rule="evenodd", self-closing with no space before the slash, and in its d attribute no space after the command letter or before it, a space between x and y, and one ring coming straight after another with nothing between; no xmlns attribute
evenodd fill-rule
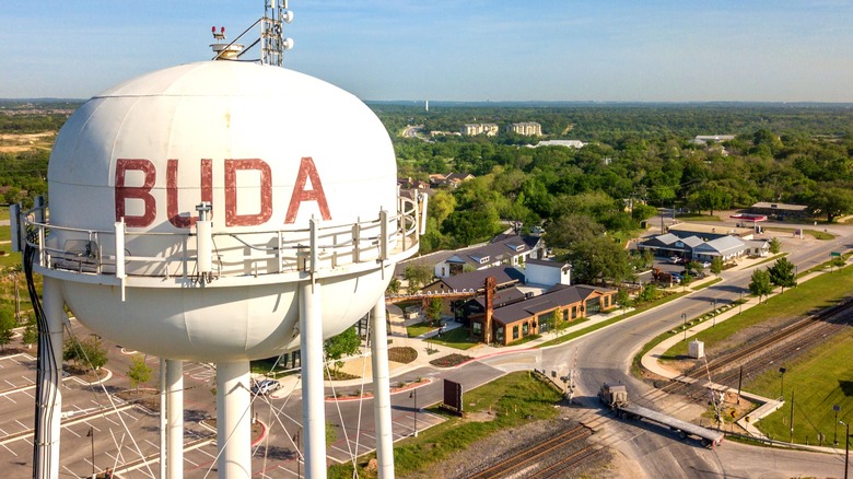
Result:
<svg viewBox="0 0 853 479"><path fill-rule="evenodd" d="M549 138L582 149L527 148L533 138L394 136L399 175L477 176L431 200L423 252L488 240L510 221L544 225L582 280L630 277L614 248L657 207L713 211L757 201L808 205L832 221L853 212L853 110L846 106L601 106L435 108L388 105L390 131L406 125L458 131L465 122L539 121ZM694 144L697 135L735 135ZM603 258L610 264L605 264ZM616 258L616 260L614 260ZM597 264L596 264L597 262Z"/></svg>

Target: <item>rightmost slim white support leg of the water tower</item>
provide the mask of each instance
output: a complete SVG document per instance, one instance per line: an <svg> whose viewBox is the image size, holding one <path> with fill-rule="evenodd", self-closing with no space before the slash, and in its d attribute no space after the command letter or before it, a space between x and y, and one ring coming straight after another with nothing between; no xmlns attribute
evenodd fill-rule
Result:
<svg viewBox="0 0 853 479"><path fill-rule="evenodd" d="M390 374L388 372L388 327L385 323L385 297L379 297L371 314L371 352L373 361L373 408L376 421L376 460L383 479L394 478L394 435L390 420Z"/></svg>

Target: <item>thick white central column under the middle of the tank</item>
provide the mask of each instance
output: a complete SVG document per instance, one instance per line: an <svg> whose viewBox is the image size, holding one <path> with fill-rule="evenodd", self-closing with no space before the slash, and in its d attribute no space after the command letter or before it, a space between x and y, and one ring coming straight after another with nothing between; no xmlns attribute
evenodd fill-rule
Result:
<svg viewBox="0 0 853 479"><path fill-rule="evenodd" d="M220 479L252 477L249 362L217 363L217 445Z"/></svg>

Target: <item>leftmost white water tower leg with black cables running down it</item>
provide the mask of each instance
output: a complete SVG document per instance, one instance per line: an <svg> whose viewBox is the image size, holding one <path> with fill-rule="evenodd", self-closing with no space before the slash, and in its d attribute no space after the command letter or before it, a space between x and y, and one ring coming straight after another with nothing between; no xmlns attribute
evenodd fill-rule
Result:
<svg viewBox="0 0 853 479"><path fill-rule="evenodd" d="M62 295L59 293L59 282L45 278L43 306L47 328L50 335L52 354L39 351L38 367L40 394L36 398L36 432L35 455L33 458L33 477L39 479L56 479L59 477L59 434L62 411L62 318L65 317ZM39 341L42 343L42 341Z"/></svg>

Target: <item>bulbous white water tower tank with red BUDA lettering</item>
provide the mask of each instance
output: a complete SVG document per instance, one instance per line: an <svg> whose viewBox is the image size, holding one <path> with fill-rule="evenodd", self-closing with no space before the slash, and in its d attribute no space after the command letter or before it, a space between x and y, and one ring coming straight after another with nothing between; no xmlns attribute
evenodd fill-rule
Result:
<svg viewBox="0 0 853 479"><path fill-rule="evenodd" d="M299 347L304 281L323 283L337 335L417 247L376 116L257 63L168 68L93 97L57 138L48 188L40 272L90 329L171 359Z"/></svg>

